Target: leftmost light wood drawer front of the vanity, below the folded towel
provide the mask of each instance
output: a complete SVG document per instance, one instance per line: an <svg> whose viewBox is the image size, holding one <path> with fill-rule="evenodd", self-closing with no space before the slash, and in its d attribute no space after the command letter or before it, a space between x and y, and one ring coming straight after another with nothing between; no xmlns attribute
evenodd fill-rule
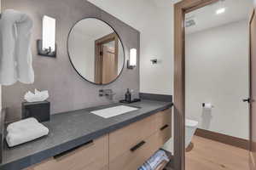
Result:
<svg viewBox="0 0 256 170"><path fill-rule="evenodd" d="M108 135L28 170L108 170Z"/></svg>

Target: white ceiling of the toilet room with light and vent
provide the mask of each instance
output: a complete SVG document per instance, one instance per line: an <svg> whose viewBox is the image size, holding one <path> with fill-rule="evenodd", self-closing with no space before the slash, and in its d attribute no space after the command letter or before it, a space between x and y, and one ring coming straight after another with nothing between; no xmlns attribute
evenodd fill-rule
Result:
<svg viewBox="0 0 256 170"><path fill-rule="evenodd" d="M225 8L223 14L216 14L218 8ZM253 9L253 0L224 0L212 3L186 14L186 20L195 20L195 26L186 28L186 33L206 30L239 20L249 20Z"/></svg>

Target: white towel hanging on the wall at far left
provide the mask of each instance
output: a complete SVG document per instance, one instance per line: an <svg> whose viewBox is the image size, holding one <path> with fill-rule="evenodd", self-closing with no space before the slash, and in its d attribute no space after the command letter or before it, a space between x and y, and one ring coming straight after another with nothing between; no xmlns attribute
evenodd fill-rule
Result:
<svg viewBox="0 0 256 170"><path fill-rule="evenodd" d="M32 20L13 9L3 11L0 20L0 84L34 82L30 49Z"/></svg>

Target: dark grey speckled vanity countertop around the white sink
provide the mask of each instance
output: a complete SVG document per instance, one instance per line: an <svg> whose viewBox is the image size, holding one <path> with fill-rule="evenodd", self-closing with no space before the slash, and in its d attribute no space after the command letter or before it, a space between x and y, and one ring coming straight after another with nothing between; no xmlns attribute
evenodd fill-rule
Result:
<svg viewBox="0 0 256 170"><path fill-rule="evenodd" d="M36 139L11 149L7 145L4 146L3 163L0 164L0 169L18 170L29 167L51 156L71 150L92 139L125 127L132 122L142 120L158 111L170 108L172 107L172 102L142 100L141 102L129 104L139 107L139 110L108 119L90 113L90 111L114 105L124 104L103 105L52 115L50 122L44 122L44 125L49 128L50 132L47 137Z"/></svg>

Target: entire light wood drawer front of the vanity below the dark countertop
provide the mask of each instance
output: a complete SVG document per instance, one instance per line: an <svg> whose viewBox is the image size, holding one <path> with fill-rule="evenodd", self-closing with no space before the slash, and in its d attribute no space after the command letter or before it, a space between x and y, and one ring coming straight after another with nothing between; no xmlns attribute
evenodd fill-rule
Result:
<svg viewBox="0 0 256 170"><path fill-rule="evenodd" d="M137 170L171 137L168 109L26 170Z"/></svg>

